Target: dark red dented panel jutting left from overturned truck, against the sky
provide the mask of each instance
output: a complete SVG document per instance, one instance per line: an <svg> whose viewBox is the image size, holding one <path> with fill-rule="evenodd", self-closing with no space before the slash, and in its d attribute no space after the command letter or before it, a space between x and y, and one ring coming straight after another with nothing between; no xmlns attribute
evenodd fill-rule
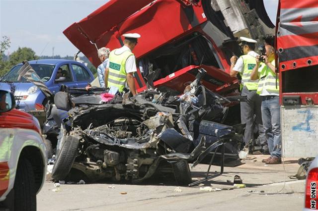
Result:
<svg viewBox="0 0 318 211"><path fill-rule="evenodd" d="M153 0L110 0L94 12L63 31L64 35L76 46L93 65L98 66L97 47L105 46L118 34L116 25ZM131 4L127 6L127 4ZM124 5L124 6L123 6ZM115 35L112 37L112 35ZM120 42L109 42L108 48L120 47Z"/></svg>

